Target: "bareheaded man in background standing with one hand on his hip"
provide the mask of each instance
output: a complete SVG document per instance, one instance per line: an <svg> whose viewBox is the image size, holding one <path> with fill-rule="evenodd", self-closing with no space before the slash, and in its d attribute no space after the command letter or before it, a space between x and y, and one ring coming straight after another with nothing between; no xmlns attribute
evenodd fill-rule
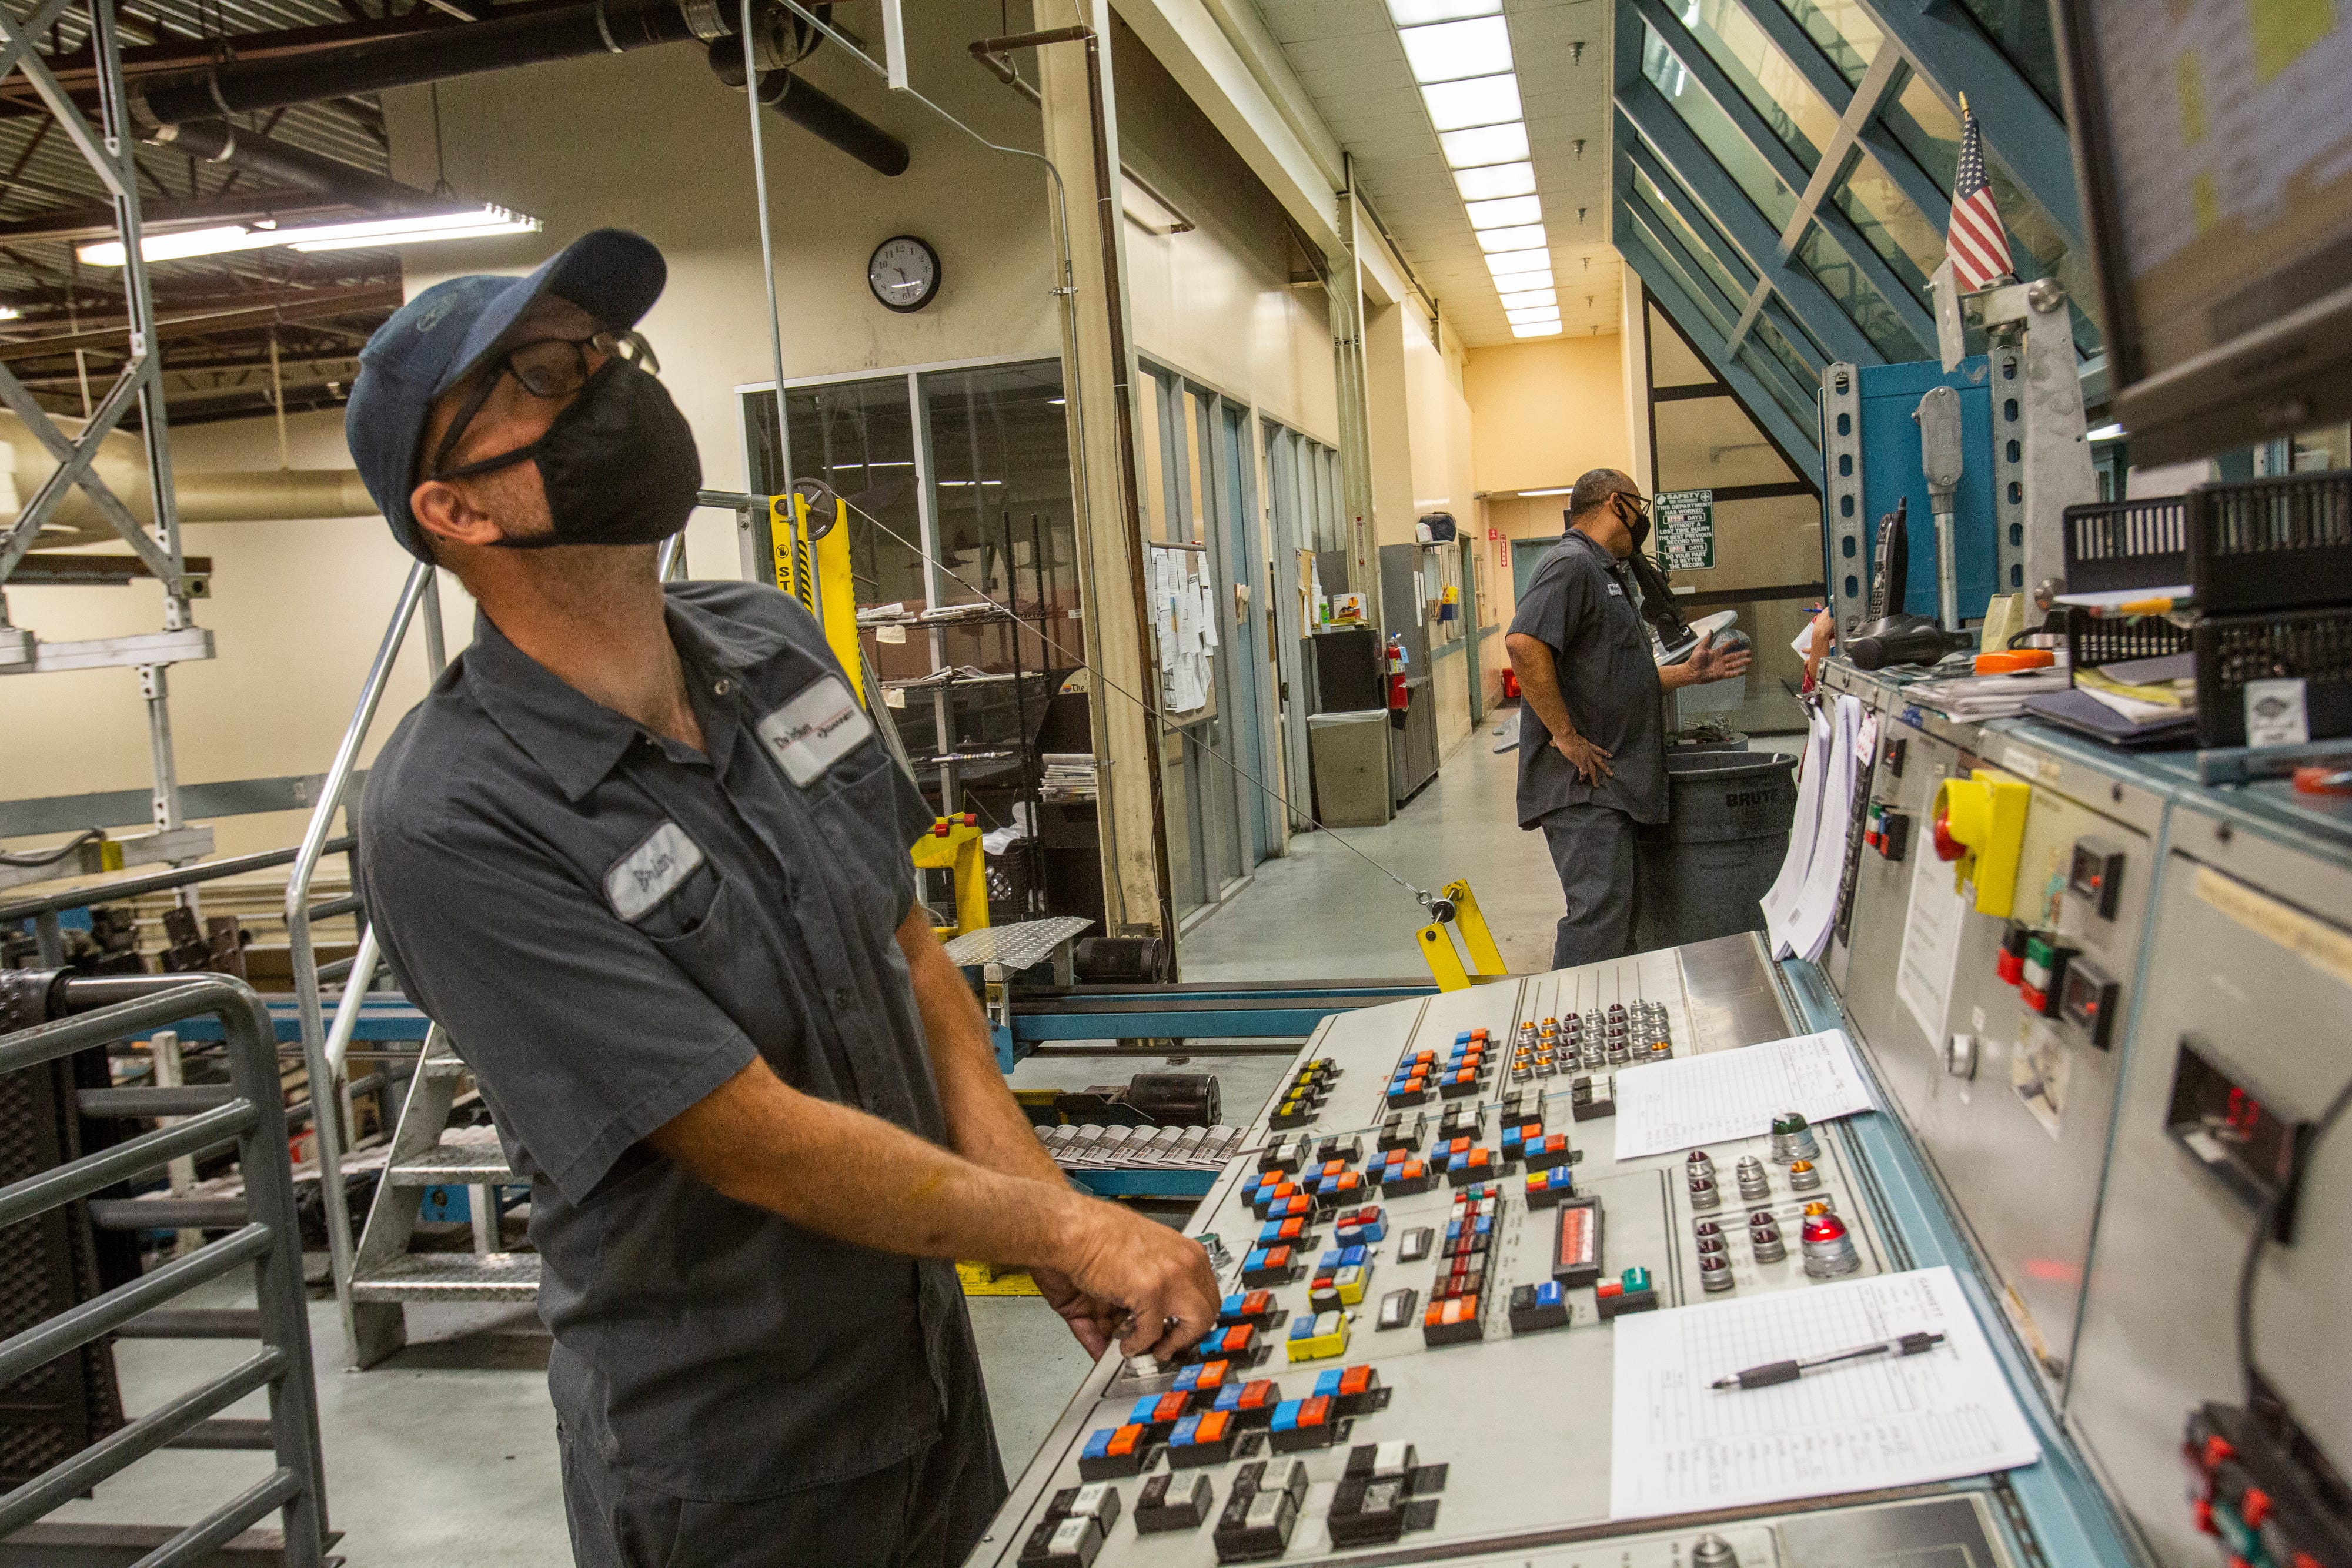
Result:
<svg viewBox="0 0 2352 1568"><path fill-rule="evenodd" d="M1748 649L1719 651L1712 637L1658 668L1625 567L1646 536L1642 489L1616 468L1590 470L1503 639L1519 677L1519 827L1543 827L1569 905L1552 969L1632 952L1635 825L1665 820L1661 696L1748 670Z"/></svg>

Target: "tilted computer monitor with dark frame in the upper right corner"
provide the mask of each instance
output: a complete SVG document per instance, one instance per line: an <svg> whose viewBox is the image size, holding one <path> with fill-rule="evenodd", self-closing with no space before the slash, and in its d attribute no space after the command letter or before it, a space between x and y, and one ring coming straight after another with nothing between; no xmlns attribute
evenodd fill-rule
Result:
<svg viewBox="0 0 2352 1568"><path fill-rule="evenodd" d="M2352 407L2352 7L2060 0L2133 461Z"/></svg>

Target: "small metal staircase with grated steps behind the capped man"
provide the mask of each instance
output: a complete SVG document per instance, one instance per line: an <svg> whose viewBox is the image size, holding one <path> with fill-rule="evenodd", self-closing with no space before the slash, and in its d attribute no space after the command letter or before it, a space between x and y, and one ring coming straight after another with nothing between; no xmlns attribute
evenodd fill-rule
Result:
<svg viewBox="0 0 2352 1568"><path fill-rule="evenodd" d="M517 1180L499 1147L499 1131L449 1126L466 1077L466 1063L433 1025L350 1265L350 1349L358 1366L374 1366L407 1342L405 1302L527 1302L539 1295L539 1253L499 1246L496 1187ZM426 1187L468 1187L470 1253L409 1251Z"/></svg>

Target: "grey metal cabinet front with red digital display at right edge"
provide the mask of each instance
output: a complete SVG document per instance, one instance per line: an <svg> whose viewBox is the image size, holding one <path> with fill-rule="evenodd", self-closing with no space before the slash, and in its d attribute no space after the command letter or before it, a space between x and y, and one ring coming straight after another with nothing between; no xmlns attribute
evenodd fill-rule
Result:
<svg viewBox="0 0 2352 1568"><path fill-rule="evenodd" d="M2352 1079L2352 860L2176 806L2143 985L2065 1410L2150 1554L2209 1568L2180 1432L2201 1401L2244 1401L2237 1279L2265 1180L2298 1201L2256 1279L2253 1361L2352 1458L2352 1133L2296 1154Z"/></svg>

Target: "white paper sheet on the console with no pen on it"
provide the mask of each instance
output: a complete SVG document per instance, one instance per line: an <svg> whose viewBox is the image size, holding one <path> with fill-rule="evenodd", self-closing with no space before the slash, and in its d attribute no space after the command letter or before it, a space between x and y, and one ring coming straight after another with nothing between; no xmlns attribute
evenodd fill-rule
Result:
<svg viewBox="0 0 2352 1568"><path fill-rule="evenodd" d="M1830 1121L1872 1107L1844 1030L1623 1067L1616 1100L1618 1159L1762 1138L1790 1110Z"/></svg>

